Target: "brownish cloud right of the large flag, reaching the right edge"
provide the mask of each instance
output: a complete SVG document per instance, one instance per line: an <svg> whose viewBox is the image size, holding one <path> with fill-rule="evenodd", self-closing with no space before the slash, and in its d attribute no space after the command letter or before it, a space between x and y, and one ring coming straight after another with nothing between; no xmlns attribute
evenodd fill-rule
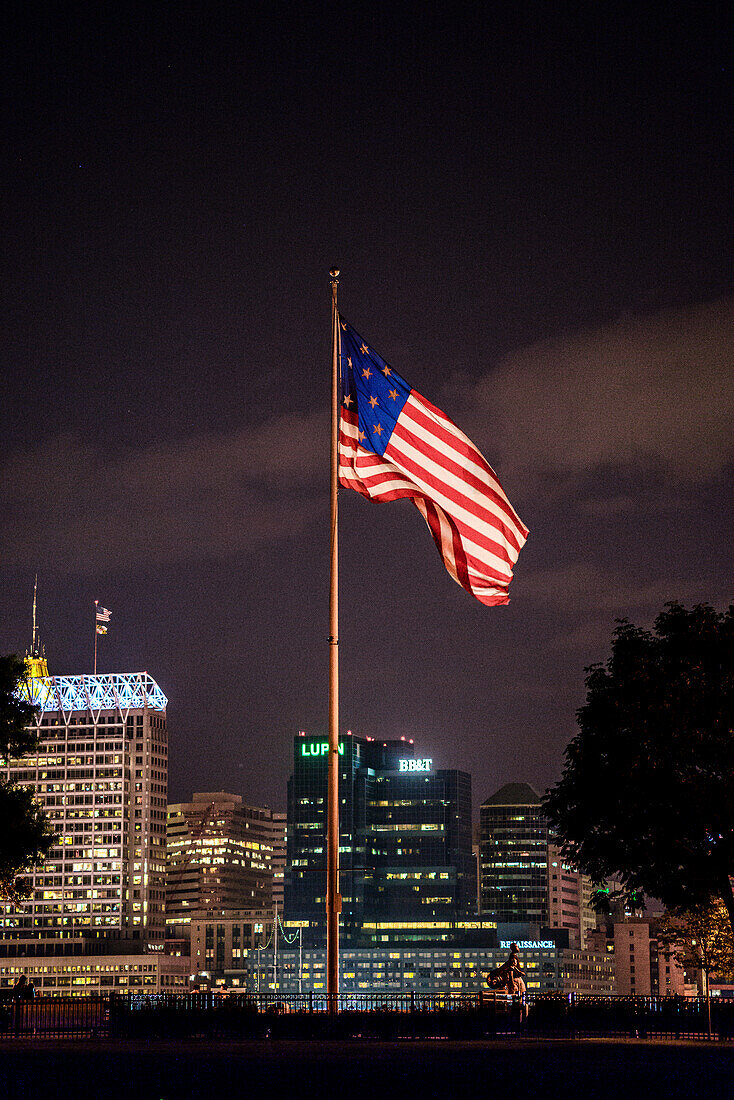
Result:
<svg viewBox="0 0 734 1100"><path fill-rule="evenodd" d="M544 341L465 394L500 469L526 484L604 465L701 481L734 457L734 298Z"/></svg>

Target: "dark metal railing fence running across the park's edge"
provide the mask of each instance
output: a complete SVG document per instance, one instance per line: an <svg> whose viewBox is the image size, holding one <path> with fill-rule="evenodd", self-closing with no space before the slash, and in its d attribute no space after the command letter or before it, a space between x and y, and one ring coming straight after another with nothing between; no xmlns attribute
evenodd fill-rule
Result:
<svg viewBox="0 0 734 1100"><path fill-rule="evenodd" d="M734 1001L537 994L109 994L0 1001L7 1038L734 1038Z"/></svg>

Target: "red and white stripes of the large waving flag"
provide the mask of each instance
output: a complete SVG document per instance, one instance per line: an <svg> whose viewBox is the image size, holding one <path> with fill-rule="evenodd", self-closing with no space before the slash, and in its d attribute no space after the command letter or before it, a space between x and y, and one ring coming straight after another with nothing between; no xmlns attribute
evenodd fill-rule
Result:
<svg viewBox="0 0 734 1100"><path fill-rule="evenodd" d="M415 389L383 457L360 446L357 410L342 406L339 481L372 501L412 499L453 580L483 604L508 602L527 528L471 440Z"/></svg>

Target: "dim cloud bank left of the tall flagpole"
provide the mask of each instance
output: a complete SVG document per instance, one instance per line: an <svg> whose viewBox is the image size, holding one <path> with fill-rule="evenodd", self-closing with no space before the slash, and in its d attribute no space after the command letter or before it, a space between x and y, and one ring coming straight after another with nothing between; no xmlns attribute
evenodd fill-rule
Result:
<svg viewBox="0 0 734 1100"><path fill-rule="evenodd" d="M8 460L6 564L58 570L227 558L303 532L322 509L324 417L197 436L114 455L59 436Z"/></svg>

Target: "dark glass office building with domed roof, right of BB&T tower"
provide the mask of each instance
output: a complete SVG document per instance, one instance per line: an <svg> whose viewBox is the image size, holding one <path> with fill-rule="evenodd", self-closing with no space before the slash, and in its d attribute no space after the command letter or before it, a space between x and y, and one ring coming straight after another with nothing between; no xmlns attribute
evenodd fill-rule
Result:
<svg viewBox="0 0 734 1100"><path fill-rule="evenodd" d="M529 783L506 783L480 809L482 913L547 927L548 823Z"/></svg>

